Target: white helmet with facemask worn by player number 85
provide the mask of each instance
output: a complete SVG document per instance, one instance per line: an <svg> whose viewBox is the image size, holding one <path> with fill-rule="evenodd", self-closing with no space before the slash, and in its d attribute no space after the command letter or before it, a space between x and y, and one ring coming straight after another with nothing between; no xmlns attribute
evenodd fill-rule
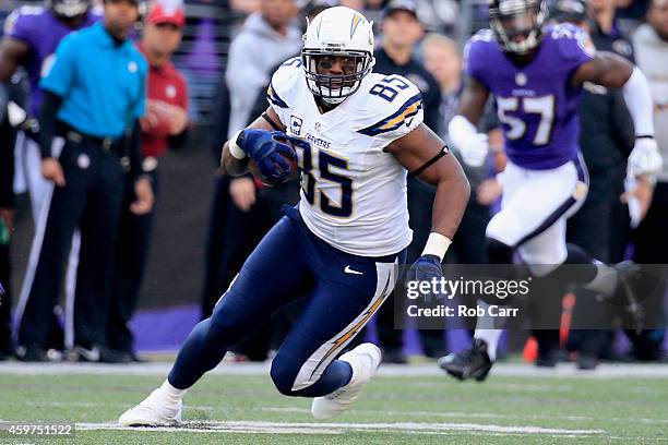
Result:
<svg viewBox="0 0 668 445"><path fill-rule="evenodd" d="M323 57L350 58L355 69L350 73L319 74L318 61ZM301 60L311 93L327 104L341 104L357 92L375 63L373 22L346 7L324 10L308 24Z"/></svg>

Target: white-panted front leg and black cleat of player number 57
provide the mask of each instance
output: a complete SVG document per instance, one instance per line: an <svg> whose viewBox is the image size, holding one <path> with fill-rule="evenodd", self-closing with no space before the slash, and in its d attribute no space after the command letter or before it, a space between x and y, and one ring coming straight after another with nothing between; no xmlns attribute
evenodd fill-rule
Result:
<svg viewBox="0 0 668 445"><path fill-rule="evenodd" d="M568 256L565 249L565 229L552 228L559 220L565 220L569 212L581 205L586 196L587 178L584 165L580 161L568 163L549 171L532 171L509 164L500 175L503 185L501 211L487 226L488 255L492 264L512 264L516 248L530 250L529 241L546 231L552 239L562 239L550 257L523 256L533 273L547 274L544 265L558 265ZM560 234L561 233L561 237ZM539 243L535 244L536 246ZM533 252L533 250L530 250ZM544 252L540 248L537 252ZM530 252L529 252L530 253ZM522 254L522 252L521 252ZM540 265L542 267L534 267ZM533 267L533 268L532 268ZM486 305L484 301L479 305ZM485 311L488 313L488 311ZM493 361L502 329L494 325L489 316L478 317L474 341L470 349L461 353L449 354L439 360L439 365L457 378L487 377Z"/></svg>

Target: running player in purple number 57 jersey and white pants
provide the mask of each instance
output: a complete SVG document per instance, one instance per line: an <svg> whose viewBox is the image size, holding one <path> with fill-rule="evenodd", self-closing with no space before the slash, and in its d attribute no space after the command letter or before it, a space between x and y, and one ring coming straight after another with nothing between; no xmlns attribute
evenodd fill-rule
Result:
<svg viewBox="0 0 668 445"><path fill-rule="evenodd" d="M465 163L482 165L487 136L476 123L494 95L509 161L498 177L501 211L486 231L490 262L512 264L516 252L536 277L582 264L573 279L610 296L630 267L606 266L565 242L565 220L584 202L588 182L577 146L577 106L585 82L621 88L636 135L628 176L652 179L661 167L652 94L637 68L596 52L588 35L571 24L544 26L546 16L541 0L489 0L491 29L478 32L466 47L467 84L449 133ZM484 318L478 327L493 325ZM477 328L472 348L441 358L440 366L460 380L485 380L500 334Z"/></svg>

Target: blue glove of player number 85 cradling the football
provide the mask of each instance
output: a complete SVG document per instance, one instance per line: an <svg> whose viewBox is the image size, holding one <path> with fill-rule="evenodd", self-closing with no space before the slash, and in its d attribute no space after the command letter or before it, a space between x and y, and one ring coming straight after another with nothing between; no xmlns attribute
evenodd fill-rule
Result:
<svg viewBox="0 0 668 445"><path fill-rule="evenodd" d="M246 129L239 133L237 145L255 161L264 178L281 182L293 172L286 158L297 159L295 148L288 143L294 140L281 131Z"/></svg>

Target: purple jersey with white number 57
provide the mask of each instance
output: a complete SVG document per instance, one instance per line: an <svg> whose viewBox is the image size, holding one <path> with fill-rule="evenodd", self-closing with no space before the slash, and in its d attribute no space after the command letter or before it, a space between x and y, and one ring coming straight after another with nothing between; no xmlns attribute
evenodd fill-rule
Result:
<svg viewBox="0 0 668 445"><path fill-rule="evenodd" d="M593 56L588 35L570 24L547 27L536 55L524 65L509 59L491 31L472 37L466 72L494 95L513 164L546 170L577 156L582 88L571 86L571 76Z"/></svg>

